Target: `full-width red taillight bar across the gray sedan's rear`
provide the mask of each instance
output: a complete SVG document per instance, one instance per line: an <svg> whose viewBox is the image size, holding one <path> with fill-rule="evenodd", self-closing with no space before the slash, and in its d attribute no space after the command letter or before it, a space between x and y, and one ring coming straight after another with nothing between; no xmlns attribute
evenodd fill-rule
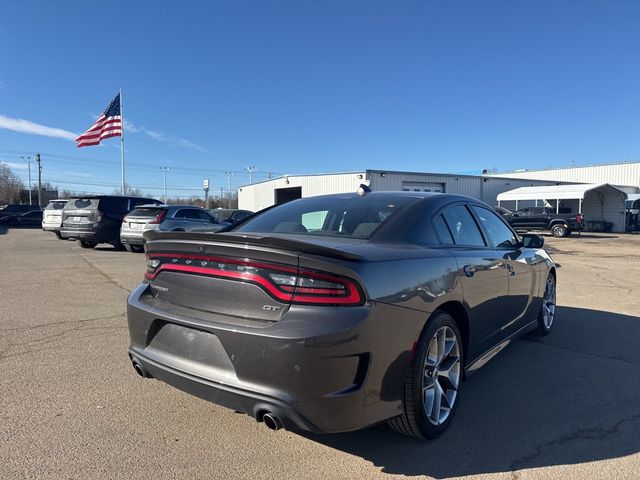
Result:
<svg viewBox="0 0 640 480"><path fill-rule="evenodd" d="M282 302L305 305L364 303L355 281L315 270L202 255L160 253L147 257L147 280L155 279L165 270L253 283Z"/></svg>

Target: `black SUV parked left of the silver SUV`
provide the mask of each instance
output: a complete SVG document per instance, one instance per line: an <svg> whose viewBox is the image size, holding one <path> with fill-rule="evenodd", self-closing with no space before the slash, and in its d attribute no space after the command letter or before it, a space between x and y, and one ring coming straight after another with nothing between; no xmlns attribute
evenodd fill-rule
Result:
<svg viewBox="0 0 640 480"><path fill-rule="evenodd" d="M98 195L71 198L62 209L60 236L77 240L83 248L110 243L121 249L120 226L137 205L160 204L152 198Z"/></svg>

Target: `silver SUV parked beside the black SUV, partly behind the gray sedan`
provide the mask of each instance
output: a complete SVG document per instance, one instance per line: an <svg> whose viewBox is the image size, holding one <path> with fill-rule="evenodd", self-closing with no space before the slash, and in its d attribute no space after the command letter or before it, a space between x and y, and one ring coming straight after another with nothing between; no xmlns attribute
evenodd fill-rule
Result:
<svg viewBox="0 0 640 480"><path fill-rule="evenodd" d="M156 232L217 232L227 227L205 209L192 205L141 205L122 220L120 241L130 252L141 252L143 234Z"/></svg>

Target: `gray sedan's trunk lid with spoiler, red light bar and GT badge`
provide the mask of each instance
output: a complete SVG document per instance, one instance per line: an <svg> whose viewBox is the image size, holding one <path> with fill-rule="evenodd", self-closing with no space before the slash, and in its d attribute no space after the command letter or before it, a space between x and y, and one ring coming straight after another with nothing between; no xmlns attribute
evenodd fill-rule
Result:
<svg viewBox="0 0 640 480"><path fill-rule="evenodd" d="M323 263L323 271L301 268L303 252L347 263L357 258L329 247L256 235L192 232L150 231L145 239L151 295L181 307L278 321L292 303L346 305L360 304L363 298L357 284L343 273L336 274L330 262Z"/></svg>

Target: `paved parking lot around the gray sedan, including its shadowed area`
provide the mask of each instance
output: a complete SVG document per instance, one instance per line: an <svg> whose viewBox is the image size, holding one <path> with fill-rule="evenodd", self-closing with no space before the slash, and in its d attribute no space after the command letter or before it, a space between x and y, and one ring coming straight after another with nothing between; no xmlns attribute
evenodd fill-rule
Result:
<svg viewBox="0 0 640 480"><path fill-rule="evenodd" d="M547 237L554 332L464 385L451 428L272 432L154 380L127 357L144 256L0 230L0 478L637 479L640 235Z"/></svg>

